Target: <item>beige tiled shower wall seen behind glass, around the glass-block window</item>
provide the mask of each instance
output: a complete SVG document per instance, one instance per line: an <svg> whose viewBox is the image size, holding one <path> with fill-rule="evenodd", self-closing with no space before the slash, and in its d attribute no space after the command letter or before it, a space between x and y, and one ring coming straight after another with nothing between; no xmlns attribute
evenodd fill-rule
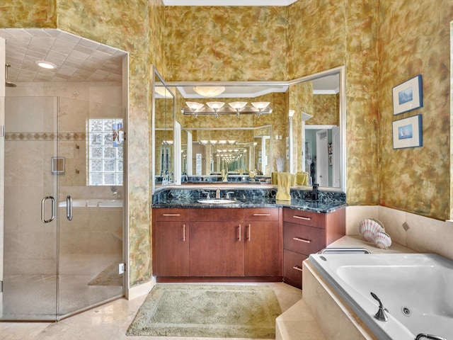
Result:
<svg viewBox="0 0 453 340"><path fill-rule="evenodd" d="M52 186L57 177L50 172L50 157L58 154L66 161L65 174L58 176L57 204L67 195L74 200L119 198L109 186L86 186L86 121L88 117L122 118L121 94L122 84L117 83L19 83L7 89L6 272L55 271L57 227L55 221L47 225L40 222L42 197L56 195ZM117 194L123 197L122 186L117 186ZM66 220L65 208L58 212L61 255L121 256L122 208L74 208L72 222Z"/></svg>

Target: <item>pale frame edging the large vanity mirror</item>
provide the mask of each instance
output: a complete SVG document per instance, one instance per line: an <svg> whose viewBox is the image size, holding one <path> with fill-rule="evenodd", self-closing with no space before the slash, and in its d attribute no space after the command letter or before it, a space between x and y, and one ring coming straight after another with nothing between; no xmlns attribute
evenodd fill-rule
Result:
<svg viewBox="0 0 453 340"><path fill-rule="evenodd" d="M339 188L333 188L333 187L323 187L320 188L321 190L328 190L328 191L342 191L346 192L346 169L347 169L347 164L346 164L346 67L339 66L339 67L334 67L332 69L327 69L325 71L317 72L314 74L309 74L308 76L300 77L297 79L292 79L289 81L168 81L165 82L159 72L154 69L154 75L159 77L159 79L162 81L162 83L168 88L168 86L291 86L295 85L301 82L305 81L312 81L314 79L318 79L321 77L326 77L330 76L333 74L339 74L339 81L340 81L340 98L339 98L339 106L340 106L340 187ZM155 106L154 106L154 77L153 77L153 84L152 84L152 89L153 89L153 105L152 105L152 126L154 127L154 119L155 119ZM169 89L170 90L170 89ZM171 90L170 90L171 91ZM171 92L173 94L173 92ZM173 104L173 121L176 120L176 96L173 94L173 101L175 102ZM174 125L173 125L174 128ZM152 129L151 129L152 130ZM174 133L174 132L173 132ZM155 183L154 183L154 152L155 152L155 147L154 147L154 141L155 141L155 136L154 136L154 130L151 132L152 135L152 143L153 143L153 159L152 159L152 186L151 186L151 191L154 193L154 188L155 188ZM176 162L173 162L176 166ZM178 162L178 164L180 164ZM176 174L176 171L173 171L173 174ZM179 182L180 184L180 182ZM311 186L306 186L310 187Z"/></svg>

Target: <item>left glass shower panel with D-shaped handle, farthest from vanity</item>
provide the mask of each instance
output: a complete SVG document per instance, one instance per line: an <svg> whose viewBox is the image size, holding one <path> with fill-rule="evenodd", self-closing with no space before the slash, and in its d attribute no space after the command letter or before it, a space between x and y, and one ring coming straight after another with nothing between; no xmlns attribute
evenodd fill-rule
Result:
<svg viewBox="0 0 453 340"><path fill-rule="evenodd" d="M58 98L6 97L1 320L57 317Z"/></svg>

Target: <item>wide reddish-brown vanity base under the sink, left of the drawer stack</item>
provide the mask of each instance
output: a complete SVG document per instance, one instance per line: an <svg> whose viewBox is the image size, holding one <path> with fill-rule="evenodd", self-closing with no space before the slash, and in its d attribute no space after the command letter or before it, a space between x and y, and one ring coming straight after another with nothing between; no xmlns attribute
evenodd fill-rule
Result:
<svg viewBox="0 0 453 340"><path fill-rule="evenodd" d="M282 278L282 208L154 208L153 221L158 280Z"/></svg>

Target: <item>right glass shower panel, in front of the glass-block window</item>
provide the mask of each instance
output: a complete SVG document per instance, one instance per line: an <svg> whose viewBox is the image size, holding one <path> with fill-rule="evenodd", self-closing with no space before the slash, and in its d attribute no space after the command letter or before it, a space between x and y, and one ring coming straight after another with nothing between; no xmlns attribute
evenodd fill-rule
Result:
<svg viewBox="0 0 453 340"><path fill-rule="evenodd" d="M59 98L59 318L123 295L123 115ZM71 205L68 209L68 205Z"/></svg>

